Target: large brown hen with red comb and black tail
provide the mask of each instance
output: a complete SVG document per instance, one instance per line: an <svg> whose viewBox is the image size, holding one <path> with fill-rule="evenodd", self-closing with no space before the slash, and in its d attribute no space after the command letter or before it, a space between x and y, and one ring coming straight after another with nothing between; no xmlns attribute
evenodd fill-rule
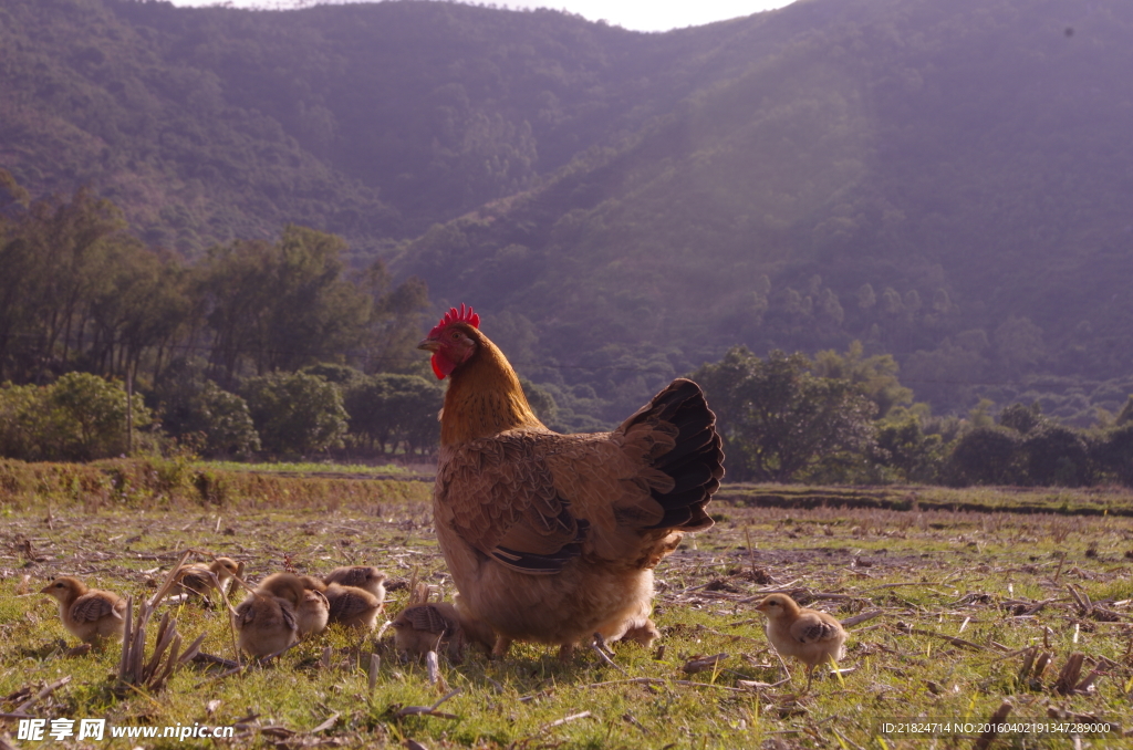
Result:
<svg viewBox="0 0 1133 750"><path fill-rule="evenodd" d="M653 569L724 476L716 417L673 381L612 433L561 435L535 416L479 316L453 308L418 344L450 377L434 494L437 542L469 619L566 658L599 633L648 642Z"/></svg>

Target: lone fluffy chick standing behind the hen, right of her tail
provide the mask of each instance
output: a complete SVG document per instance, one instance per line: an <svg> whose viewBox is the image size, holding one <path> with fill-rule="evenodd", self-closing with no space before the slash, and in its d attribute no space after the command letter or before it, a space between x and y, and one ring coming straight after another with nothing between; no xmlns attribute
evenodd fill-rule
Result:
<svg viewBox="0 0 1133 750"><path fill-rule="evenodd" d="M756 608L767 615L767 640L775 650L807 665L808 690L816 666L845 656L846 631L832 615L800 607L786 594L772 594Z"/></svg>

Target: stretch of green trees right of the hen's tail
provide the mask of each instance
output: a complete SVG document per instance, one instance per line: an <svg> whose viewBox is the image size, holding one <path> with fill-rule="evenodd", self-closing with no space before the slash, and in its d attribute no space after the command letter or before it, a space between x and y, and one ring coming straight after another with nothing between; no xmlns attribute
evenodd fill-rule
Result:
<svg viewBox="0 0 1133 750"><path fill-rule="evenodd" d="M1065 426L1037 402L993 415L935 417L913 403L889 355L866 357L743 347L692 375L724 436L729 478L817 484L1133 486L1133 395L1089 429Z"/></svg>

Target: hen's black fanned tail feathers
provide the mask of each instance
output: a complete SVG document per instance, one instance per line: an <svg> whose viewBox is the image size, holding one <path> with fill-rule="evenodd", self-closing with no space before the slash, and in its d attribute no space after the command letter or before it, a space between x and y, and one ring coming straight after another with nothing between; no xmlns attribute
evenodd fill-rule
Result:
<svg viewBox="0 0 1133 750"><path fill-rule="evenodd" d="M671 476L675 485L664 494L653 492L665 514L650 528L707 529L713 520L705 513L705 505L724 476L723 441L716 433L716 415L708 408L699 385L678 378L627 419L621 429L650 420L665 421L678 429L673 449L653 462L653 468Z"/></svg>

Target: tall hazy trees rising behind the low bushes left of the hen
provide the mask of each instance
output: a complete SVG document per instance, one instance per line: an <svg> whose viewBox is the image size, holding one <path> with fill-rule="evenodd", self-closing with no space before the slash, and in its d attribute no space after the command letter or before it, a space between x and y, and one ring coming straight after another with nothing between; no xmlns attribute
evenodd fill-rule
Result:
<svg viewBox="0 0 1133 750"><path fill-rule="evenodd" d="M187 264L144 246L86 189L29 203L2 170L0 180L10 196L0 201L0 381L80 369L157 387L189 359L227 387L324 361L420 370L410 352L425 283L394 284L381 261L348 267L337 236L288 225L275 241L233 240Z"/></svg>

